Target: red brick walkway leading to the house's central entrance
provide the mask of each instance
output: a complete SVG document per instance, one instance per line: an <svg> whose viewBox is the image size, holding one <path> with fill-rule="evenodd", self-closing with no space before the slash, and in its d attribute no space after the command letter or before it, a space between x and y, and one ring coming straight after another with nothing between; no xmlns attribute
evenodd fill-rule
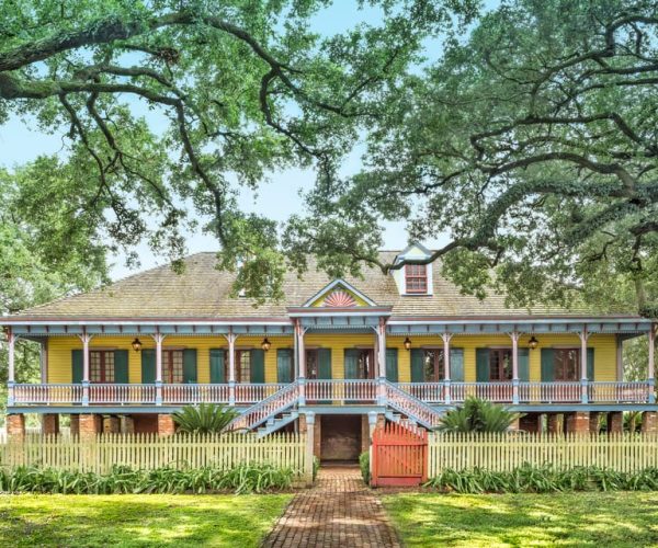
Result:
<svg viewBox="0 0 658 548"><path fill-rule="evenodd" d="M399 547L379 499L359 468L322 467L313 489L295 495L265 538L265 548Z"/></svg>

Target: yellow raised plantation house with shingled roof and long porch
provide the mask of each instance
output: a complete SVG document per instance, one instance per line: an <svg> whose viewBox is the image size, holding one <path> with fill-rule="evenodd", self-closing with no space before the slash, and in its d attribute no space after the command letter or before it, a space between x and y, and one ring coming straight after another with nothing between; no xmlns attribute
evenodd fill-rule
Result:
<svg viewBox="0 0 658 548"><path fill-rule="evenodd" d="M311 265L303 279L288 274L285 302L254 307L198 253L182 275L158 267L7 317L8 430L36 412L45 432L69 414L73 432L104 418L110 430L167 434L182 406L215 402L260 435L313 424L318 456L352 459L377 421L433 427L468 396L525 413L527 431L589 431L601 413L619 431L624 410L656 429L650 320L480 301L421 264L429 256L421 244L383 251L410 263L363 279ZM651 342L648 376L626 381L622 343L635 336ZM19 338L42 345L39 384L14 383Z"/></svg>

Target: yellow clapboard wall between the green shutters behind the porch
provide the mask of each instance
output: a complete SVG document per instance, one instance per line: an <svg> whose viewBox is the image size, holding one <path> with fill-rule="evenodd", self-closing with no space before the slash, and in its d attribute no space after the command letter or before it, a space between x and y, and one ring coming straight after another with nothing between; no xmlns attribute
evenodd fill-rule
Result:
<svg viewBox="0 0 658 548"><path fill-rule="evenodd" d="M540 344L530 352L530 380L541 380L542 347L580 347L580 339L576 334L537 334ZM141 381L140 353L135 352L131 342L134 336L94 336L90 349L126 349L128 350L128 378L131 383ZM150 336L139 338L145 349L155 347ZM442 346L439 335L410 335L413 347ZM530 335L522 336L519 346L527 346ZM398 349L398 374L400 383L411 380L410 352L404 347L405 336L388 336L386 346ZM262 336L240 336L236 349L260 349ZM270 336L272 347L265 352L265 383L276 383L276 350L292 349L292 336ZM374 347L375 334L350 333L309 333L304 338L306 347L331 349L331 376L334 379L344 377L343 355L345 349ZM488 346L511 346L508 335L455 335L451 340L452 347L464 349L465 381L475 381L475 350ZM592 334L588 346L594 349L595 380L616 380L616 343L614 335ZM82 343L77 336L53 336L48 340L47 378L52 384L71 383L71 350L81 349ZM223 336L168 336L163 347L188 347L197 350L197 378L200 383L209 383L209 350L228 349Z"/></svg>

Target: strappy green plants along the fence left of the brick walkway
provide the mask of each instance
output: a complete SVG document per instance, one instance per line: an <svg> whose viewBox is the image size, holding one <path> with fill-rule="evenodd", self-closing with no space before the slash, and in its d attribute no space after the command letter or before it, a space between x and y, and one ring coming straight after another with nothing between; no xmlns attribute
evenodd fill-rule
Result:
<svg viewBox="0 0 658 548"><path fill-rule="evenodd" d="M211 493L236 494L281 491L292 487L297 472L269 464L242 464L228 470L214 467L135 470L115 466L111 473L55 468L16 467L0 470L5 493L124 494Z"/></svg>

